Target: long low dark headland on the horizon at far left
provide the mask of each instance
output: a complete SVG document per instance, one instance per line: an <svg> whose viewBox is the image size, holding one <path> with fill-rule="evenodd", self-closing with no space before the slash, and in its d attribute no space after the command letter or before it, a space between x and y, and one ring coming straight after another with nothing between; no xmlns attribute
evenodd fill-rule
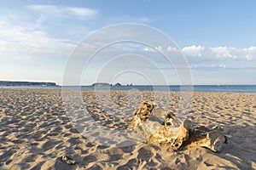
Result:
<svg viewBox="0 0 256 170"><path fill-rule="evenodd" d="M0 81L0 86L58 86L55 82L9 82Z"/></svg>

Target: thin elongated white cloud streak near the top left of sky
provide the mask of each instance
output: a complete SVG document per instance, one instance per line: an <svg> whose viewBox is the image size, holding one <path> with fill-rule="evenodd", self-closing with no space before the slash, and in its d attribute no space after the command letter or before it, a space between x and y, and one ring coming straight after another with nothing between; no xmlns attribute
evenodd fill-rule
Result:
<svg viewBox="0 0 256 170"><path fill-rule="evenodd" d="M79 8L79 7L61 7L55 5L42 5L34 4L28 5L27 8L39 11L42 14L55 15L55 16L69 16L76 15L83 19L95 18L98 14L98 10L91 8Z"/></svg>

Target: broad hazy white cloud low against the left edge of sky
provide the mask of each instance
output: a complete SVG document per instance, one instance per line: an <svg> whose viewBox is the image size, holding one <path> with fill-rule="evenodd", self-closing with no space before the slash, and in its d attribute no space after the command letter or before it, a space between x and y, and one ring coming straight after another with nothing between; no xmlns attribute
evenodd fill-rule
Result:
<svg viewBox="0 0 256 170"><path fill-rule="evenodd" d="M46 32L32 30L30 26L19 26L0 21L0 59L20 60L38 57L61 57L69 54L74 43L64 38L49 37Z"/></svg>

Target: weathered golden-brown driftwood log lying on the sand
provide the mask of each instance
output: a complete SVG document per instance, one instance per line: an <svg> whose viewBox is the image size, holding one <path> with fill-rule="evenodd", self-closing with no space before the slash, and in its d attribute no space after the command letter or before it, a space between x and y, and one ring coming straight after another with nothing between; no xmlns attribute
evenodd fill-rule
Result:
<svg viewBox="0 0 256 170"><path fill-rule="evenodd" d="M143 102L134 113L130 129L143 133L151 144L171 146L178 150L191 147L206 147L214 152L220 151L227 138L221 127L209 129L204 126L192 127L188 119L181 122L172 112L154 109L150 102Z"/></svg>

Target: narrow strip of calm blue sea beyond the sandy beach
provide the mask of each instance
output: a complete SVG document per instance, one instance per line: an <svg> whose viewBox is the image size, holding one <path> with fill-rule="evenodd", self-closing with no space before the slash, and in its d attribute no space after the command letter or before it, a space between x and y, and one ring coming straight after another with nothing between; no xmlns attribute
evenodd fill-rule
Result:
<svg viewBox="0 0 256 170"><path fill-rule="evenodd" d="M61 86L6 86L0 88L39 88L61 89ZM64 87L80 88L80 87ZM194 91L194 92L230 92L230 93L256 93L256 85L195 85L195 86L82 86L83 90L146 90L146 91Z"/></svg>

